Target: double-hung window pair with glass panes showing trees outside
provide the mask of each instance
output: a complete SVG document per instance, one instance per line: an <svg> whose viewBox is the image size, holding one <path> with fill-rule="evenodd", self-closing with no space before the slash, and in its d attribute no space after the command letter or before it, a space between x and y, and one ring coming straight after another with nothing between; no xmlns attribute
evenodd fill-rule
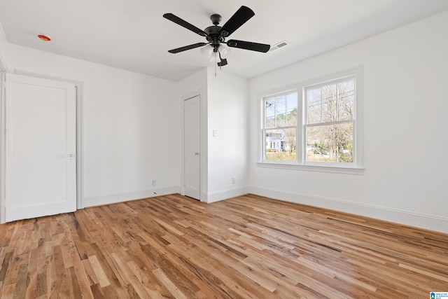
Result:
<svg viewBox="0 0 448 299"><path fill-rule="evenodd" d="M361 166L361 69L262 97L263 163Z"/></svg>

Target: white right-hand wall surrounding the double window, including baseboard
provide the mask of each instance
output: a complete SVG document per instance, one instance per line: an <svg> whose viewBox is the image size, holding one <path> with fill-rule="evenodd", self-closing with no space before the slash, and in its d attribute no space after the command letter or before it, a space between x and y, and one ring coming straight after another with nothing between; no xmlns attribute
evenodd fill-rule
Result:
<svg viewBox="0 0 448 299"><path fill-rule="evenodd" d="M448 232L448 12L250 83L251 192ZM364 67L363 175L257 167L260 92Z"/></svg>

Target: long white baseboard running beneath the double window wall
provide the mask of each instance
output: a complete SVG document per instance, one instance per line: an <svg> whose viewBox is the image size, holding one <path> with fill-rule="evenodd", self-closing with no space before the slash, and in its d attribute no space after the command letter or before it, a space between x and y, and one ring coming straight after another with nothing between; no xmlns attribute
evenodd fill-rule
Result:
<svg viewBox="0 0 448 299"><path fill-rule="evenodd" d="M343 211L350 214L376 218L393 223L414 226L426 230L435 230L437 232L448 233L448 218L419 214L411 211L402 211L386 207L378 207L370 204L359 204L356 202L347 202L328 197L316 197L307 194L286 192L271 188L260 188L251 186L250 193L270 197L285 202L294 202L297 204L307 204L324 209Z"/></svg>

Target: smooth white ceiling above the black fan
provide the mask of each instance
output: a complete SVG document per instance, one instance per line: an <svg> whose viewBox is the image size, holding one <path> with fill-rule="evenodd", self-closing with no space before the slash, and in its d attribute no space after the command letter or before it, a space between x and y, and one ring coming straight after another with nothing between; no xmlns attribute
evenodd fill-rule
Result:
<svg viewBox="0 0 448 299"><path fill-rule="evenodd" d="M447 0L0 0L0 21L9 43L179 81L214 63L200 48L168 53L207 41L162 15L205 29L210 15L222 26L241 5L255 16L229 39L290 43L272 53L232 48L223 71L244 78L448 10Z"/></svg>

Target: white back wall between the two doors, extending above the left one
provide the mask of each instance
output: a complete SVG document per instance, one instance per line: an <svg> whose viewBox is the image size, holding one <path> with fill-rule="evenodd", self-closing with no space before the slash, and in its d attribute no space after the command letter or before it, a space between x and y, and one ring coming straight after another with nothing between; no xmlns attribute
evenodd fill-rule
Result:
<svg viewBox="0 0 448 299"><path fill-rule="evenodd" d="M176 83L13 44L7 48L10 71L82 87L84 207L179 192Z"/></svg>

